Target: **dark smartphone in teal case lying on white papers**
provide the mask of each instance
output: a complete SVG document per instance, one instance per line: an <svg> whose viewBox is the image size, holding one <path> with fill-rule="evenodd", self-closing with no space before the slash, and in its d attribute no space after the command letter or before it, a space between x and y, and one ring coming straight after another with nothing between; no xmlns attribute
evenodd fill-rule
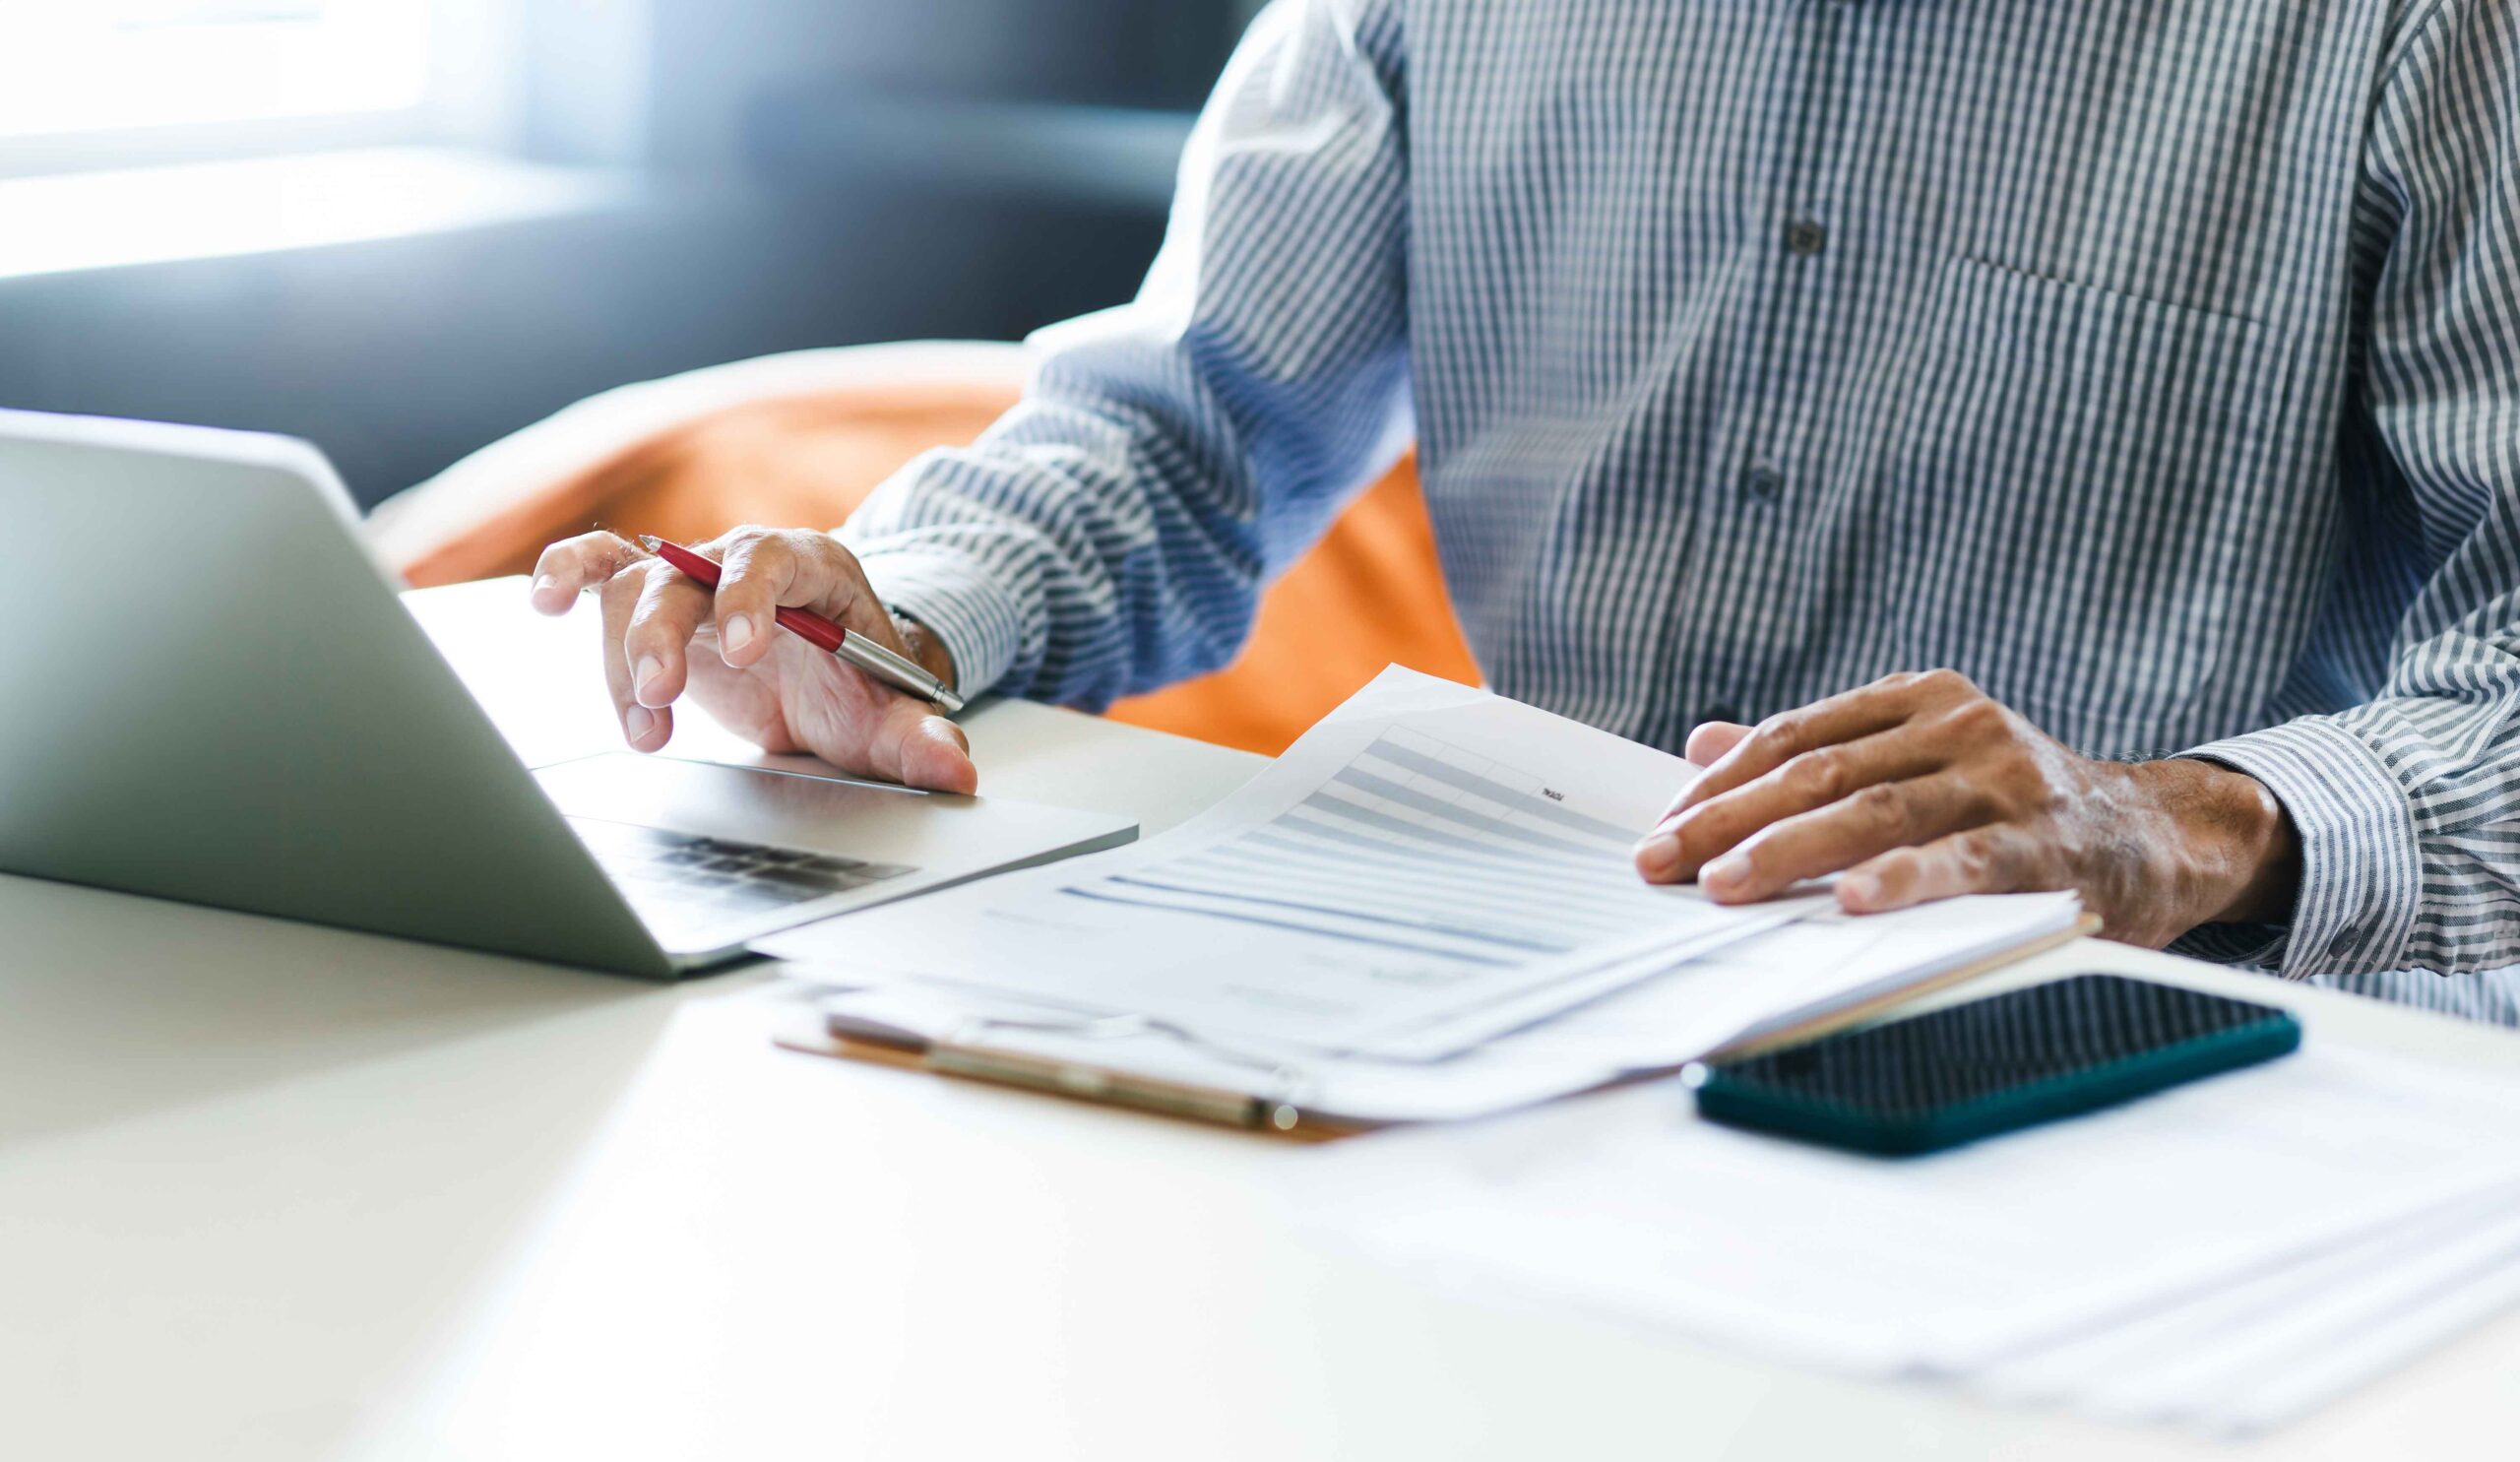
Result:
<svg viewBox="0 0 2520 1462"><path fill-rule="evenodd" d="M1698 1114L1855 1152L1958 1147L2301 1046L2276 1006L2124 976L2071 976L1688 1066Z"/></svg>

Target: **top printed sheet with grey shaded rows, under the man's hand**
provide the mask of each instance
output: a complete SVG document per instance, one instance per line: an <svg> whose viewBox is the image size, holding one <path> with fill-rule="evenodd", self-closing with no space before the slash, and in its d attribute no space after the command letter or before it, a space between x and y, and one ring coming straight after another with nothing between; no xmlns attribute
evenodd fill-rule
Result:
<svg viewBox="0 0 2520 1462"><path fill-rule="evenodd" d="M1179 829L761 953L1263 1049L1441 1059L1814 907L1638 880L1630 847L1688 776L1663 751L1386 671Z"/></svg>

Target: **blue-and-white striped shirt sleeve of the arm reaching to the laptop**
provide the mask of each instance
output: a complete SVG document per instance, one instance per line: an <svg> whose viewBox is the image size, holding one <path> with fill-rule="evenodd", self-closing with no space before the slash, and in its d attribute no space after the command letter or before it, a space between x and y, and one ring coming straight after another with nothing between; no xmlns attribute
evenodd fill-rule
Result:
<svg viewBox="0 0 2520 1462"><path fill-rule="evenodd" d="M1139 297L1036 335L1023 403L842 529L965 691L1101 706L1227 663L1268 577L1396 461L1401 55L1389 0L1273 5Z"/></svg>

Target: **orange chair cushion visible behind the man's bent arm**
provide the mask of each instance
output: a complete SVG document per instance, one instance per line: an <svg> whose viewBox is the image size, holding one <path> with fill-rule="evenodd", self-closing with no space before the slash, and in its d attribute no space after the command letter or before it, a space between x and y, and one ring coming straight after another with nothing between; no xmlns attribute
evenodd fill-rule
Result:
<svg viewBox="0 0 2520 1462"><path fill-rule="evenodd" d="M741 401L552 481L514 484L499 507L396 567L413 585L444 585L527 572L542 544L592 527L688 542L743 522L834 524L905 461L930 446L968 444L1011 403L1003 383L849 386ZM1479 681L1409 461L1270 585L1230 668L1131 696L1111 716L1278 754L1386 663Z"/></svg>

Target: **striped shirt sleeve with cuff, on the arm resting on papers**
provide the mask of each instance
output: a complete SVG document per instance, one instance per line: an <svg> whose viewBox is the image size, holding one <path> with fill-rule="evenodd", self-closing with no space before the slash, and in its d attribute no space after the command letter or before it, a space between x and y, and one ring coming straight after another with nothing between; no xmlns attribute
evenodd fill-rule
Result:
<svg viewBox="0 0 2520 1462"><path fill-rule="evenodd" d="M2301 832L2288 976L2520 963L2520 8L2444 0L2386 76L2364 176L2379 270L2354 391L2422 524L2379 698L2195 751ZM2218 950L2240 953L2240 950Z"/></svg>

